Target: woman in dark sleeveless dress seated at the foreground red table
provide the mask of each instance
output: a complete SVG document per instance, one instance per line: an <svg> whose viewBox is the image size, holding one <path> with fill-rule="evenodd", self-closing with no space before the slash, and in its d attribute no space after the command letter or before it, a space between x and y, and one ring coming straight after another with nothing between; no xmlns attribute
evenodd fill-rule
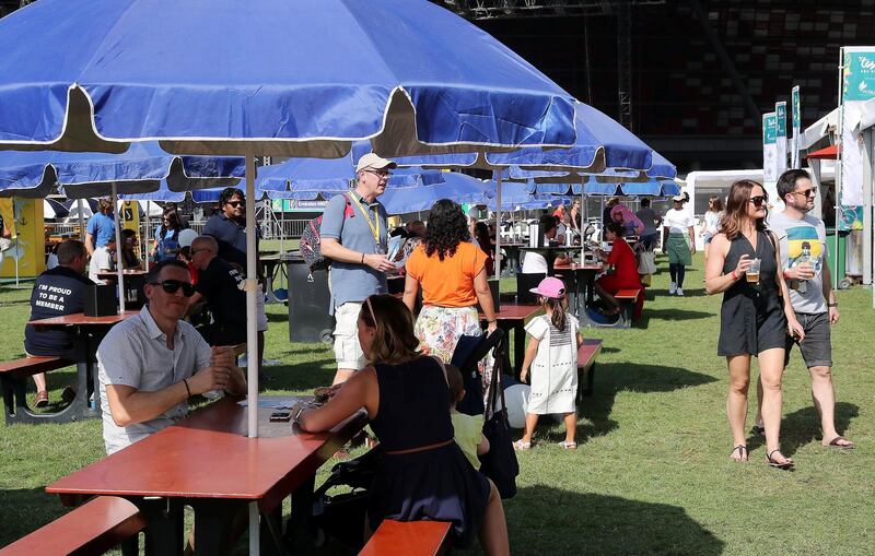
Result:
<svg viewBox="0 0 875 556"><path fill-rule="evenodd" d="M448 521L457 547L479 532L483 552L510 554L501 497L453 439L446 370L419 351L410 310L392 295L372 295L362 305L358 335L370 366L335 387L325 405L296 404L292 417L317 433L361 407L368 412L384 456L370 489L365 530L384 519Z"/></svg>

